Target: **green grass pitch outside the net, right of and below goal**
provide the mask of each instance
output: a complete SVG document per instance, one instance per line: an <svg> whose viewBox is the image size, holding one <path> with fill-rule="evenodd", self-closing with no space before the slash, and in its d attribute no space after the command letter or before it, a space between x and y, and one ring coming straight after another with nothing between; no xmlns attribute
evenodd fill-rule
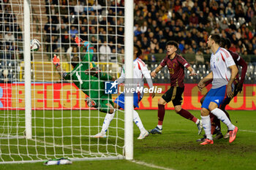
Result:
<svg viewBox="0 0 256 170"><path fill-rule="evenodd" d="M200 117L199 111L191 112L196 117ZM138 110L138 113L146 129L154 128L157 125L157 110ZM134 125L134 158L136 161L144 161L170 169L255 169L256 114L254 111L229 111L229 113L233 124L239 128L237 138L232 144L228 142L228 139L219 139L214 144L201 146L195 142L196 139L202 137L197 136L195 123L184 119L174 111L167 110L165 112L162 135L150 135L144 140L137 140L140 132ZM95 114L97 113L95 112ZM98 121L95 121L94 123L98 125ZM99 121L99 125L102 124L102 121L102 119ZM94 123L91 122L91 125ZM222 124L222 134L225 134L226 131L227 128ZM0 169L29 169L29 167L76 170L151 169L125 160L83 161L73 162L72 165L67 166L51 167L43 166L42 163L0 165Z"/></svg>

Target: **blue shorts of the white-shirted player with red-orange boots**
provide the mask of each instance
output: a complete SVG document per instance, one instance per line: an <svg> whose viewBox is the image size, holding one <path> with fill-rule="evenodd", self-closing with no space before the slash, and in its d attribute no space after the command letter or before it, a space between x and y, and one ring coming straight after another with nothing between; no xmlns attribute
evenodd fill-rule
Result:
<svg viewBox="0 0 256 170"><path fill-rule="evenodd" d="M222 104L222 102L225 99L226 95L226 88L227 85L223 85L220 88L211 88L211 90L208 91L206 98L203 101L202 108L208 109L209 104L211 102L214 102L218 105Z"/></svg>

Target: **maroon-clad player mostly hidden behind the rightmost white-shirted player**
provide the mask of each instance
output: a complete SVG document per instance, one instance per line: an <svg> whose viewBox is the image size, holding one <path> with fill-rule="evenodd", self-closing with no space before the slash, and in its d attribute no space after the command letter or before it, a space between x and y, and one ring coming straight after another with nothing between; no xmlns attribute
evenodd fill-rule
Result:
<svg viewBox="0 0 256 170"><path fill-rule="evenodd" d="M231 46L230 39L221 38L220 47L223 47L225 49L229 49L230 46ZM238 92L241 93L241 91L243 90L244 78L245 78L246 71L247 71L247 63L244 61L243 58L241 58L240 55L238 55L238 53L235 53L235 52L230 51L230 50L227 50L227 51L232 56L233 60L236 63L236 66L237 67L238 66L242 67L242 69L241 69L241 79L239 80L239 74L237 74L236 79L233 82L233 85L235 85L233 97L235 97L238 94ZM206 85L208 85L210 83L211 83L211 81L207 82ZM206 95L203 96L203 98L201 98L201 100L200 100L201 104L203 104L204 98L206 98ZM230 115L225 110L225 107L227 106L227 104L230 103L231 100L232 100L232 98L226 98L225 101L223 101L223 103L219 106L219 109L222 109L222 111L225 112L225 114L227 115L227 117L229 119L230 119ZM219 119L211 113L210 113L210 118L211 118L211 134L216 134L216 136L214 137L214 140L221 139L223 137L223 135L222 135L222 132L221 132ZM228 139L228 138L229 138L229 132L227 131L227 134L225 134L224 139ZM202 139L197 139L197 142L203 142L204 139L206 139L206 136L204 136Z"/></svg>

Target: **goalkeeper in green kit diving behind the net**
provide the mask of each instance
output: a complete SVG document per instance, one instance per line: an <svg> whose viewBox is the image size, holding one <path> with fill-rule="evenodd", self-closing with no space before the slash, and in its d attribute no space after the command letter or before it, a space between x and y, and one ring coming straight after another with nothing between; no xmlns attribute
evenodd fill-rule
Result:
<svg viewBox="0 0 256 170"><path fill-rule="evenodd" d="M80 46L79 38L76 37L76 42ZM111 94L105 94L104 80L115 80L115 77L109 74L99 72L97 66L92 61L94 47L89 42L82 42L86 47L86 55L80 60L77 56L71 59L72 71L62 72L60 66L60 59L56 55L53 57L53 64L56 66L57 72L65 80L72 80L74 84L86 93L86 104L89 107L99 109L100 112L112 114L115 109L113 108L113 101Z"/></svg>

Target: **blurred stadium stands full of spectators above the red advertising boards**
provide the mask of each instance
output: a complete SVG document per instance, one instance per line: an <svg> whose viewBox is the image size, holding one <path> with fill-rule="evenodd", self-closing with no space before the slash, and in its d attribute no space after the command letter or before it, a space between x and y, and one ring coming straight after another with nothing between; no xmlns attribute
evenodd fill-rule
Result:
<svg viewBox="0 0 256 170"><path fill-rule="evenodd" d="M88 7L88 5L90 7ZM31 0L31 35L42 47L31 55L31 73L34 81L56 81L56 74L42 72L52 69L53 53L63 55L69 62L78 55L74 36L94 44L94 61L124 61L124 1L37 1ZM179 43L179 53L199 73L198 82L208 74L211 56L206 47L209 34L217 33L231 40L230 50L248 63L246 83L256 78L256 5L254 0L212 1L135 1L135 44L143 50L141 58L153 70L165 57L165 43L172 39ZM23 81L23 18L19 1L1 1L0 82ZM97 17L96 17L97 15ZM118 16L118 17L116 17ZM78 26L78 23L79 26ZM108 57L106 57L108 55ZM42 64L44 62L44 64ZM64 63L69 70L69 63ZM105 64L103 63L102 66ZM106 67L106 66L105 66ZM110 66L116 72L120 66ZM16 69L19 68L19 69ZM103 68L104 69L104 68ZM165 82L167 69L157 75L156 82Z"/></svg>

